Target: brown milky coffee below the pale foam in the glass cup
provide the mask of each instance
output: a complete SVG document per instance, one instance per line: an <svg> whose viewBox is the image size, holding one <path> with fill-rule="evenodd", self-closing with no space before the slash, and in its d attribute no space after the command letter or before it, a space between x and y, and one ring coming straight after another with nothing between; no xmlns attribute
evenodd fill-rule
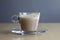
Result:
<svg viewBox="0 0 60 40"><path fill-rule="evenodd" d="M19 22L21 24L21 29L24 31L37 31L38 28L38 18L28 18L19 17Z"/></svg>

